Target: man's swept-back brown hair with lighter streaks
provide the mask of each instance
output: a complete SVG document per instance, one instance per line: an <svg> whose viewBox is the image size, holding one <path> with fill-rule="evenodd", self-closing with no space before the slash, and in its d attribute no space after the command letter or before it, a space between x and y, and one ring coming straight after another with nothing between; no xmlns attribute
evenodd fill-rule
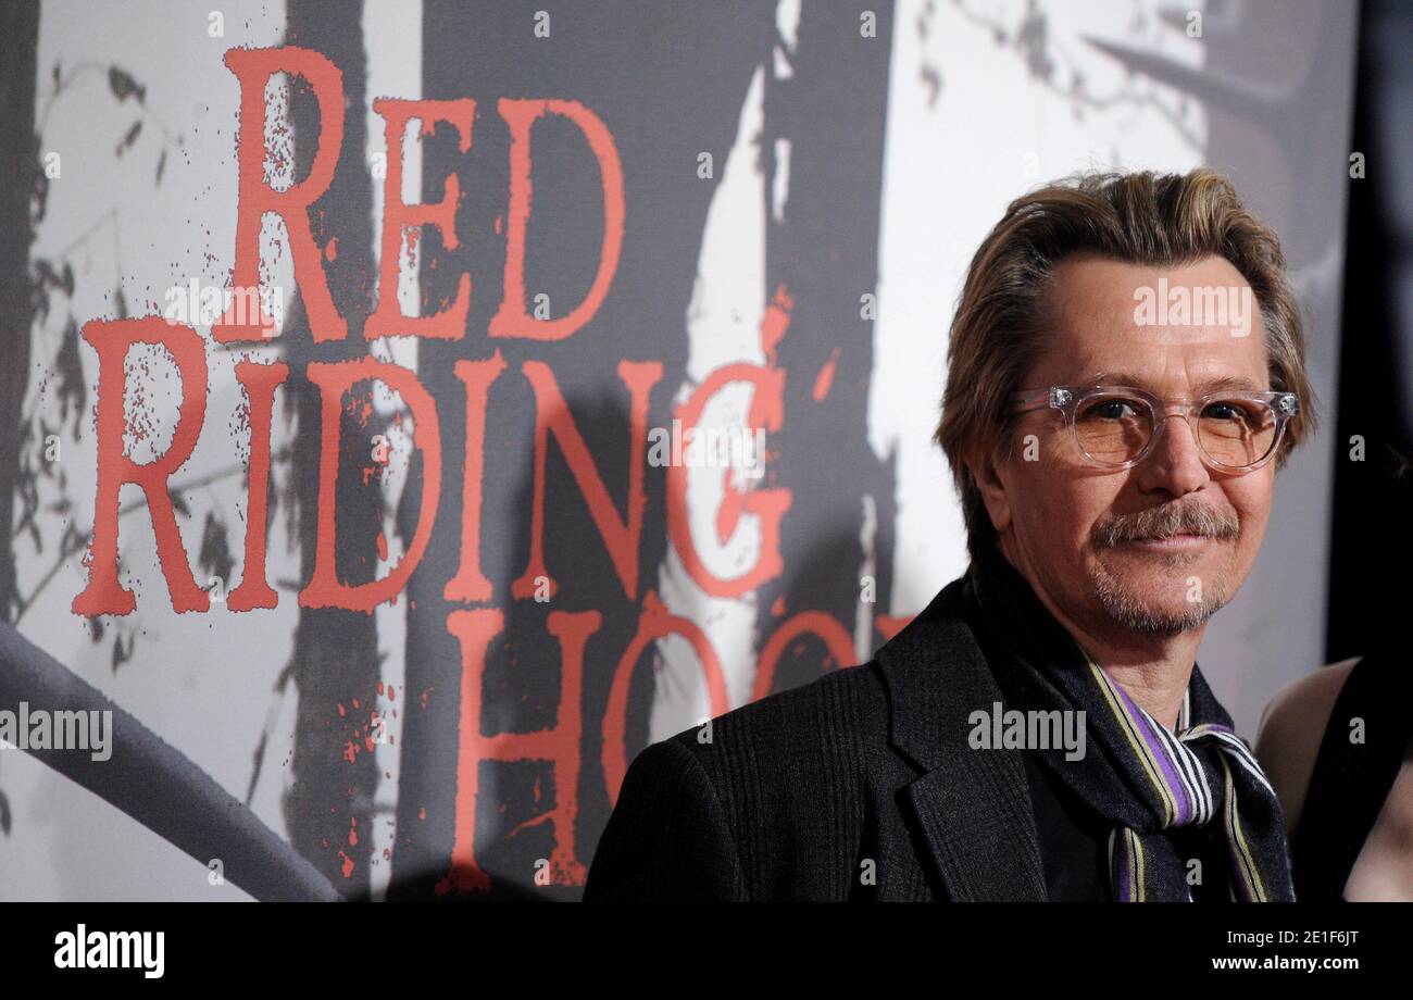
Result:
<svg viewBox="0 0 1413 1000"><path fill-rule="evenodd" d="M942 417L933 436L961 493L972 558L995 545L996 531L968 463L1009 442L1016 418L1005 412L1006 397L1030 388L1022 380L1053 336L1047 291L1054 268L1077 254L1159 267L1226 258L1260 308L1270 387L1300 397L1276 469L1316 428L1300 309L1280 242L1246 210L1231 181L1207 168L1067 178L1006 208L972 257L952 319Z"/></svg>

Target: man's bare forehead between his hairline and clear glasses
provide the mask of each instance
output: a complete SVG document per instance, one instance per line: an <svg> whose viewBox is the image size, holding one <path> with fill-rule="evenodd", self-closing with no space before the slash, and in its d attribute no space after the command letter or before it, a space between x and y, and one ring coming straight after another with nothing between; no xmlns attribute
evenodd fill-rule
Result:
<svg viewBox="0 0 1413 1000"><path fill-rule="evenodd" d="M1027 384L1125 373L1125 384L1160 393L1269 387L1256 297L1221 257L1166 267L1070 258L1056 267L1047 305L1050 339Z"/></svg>

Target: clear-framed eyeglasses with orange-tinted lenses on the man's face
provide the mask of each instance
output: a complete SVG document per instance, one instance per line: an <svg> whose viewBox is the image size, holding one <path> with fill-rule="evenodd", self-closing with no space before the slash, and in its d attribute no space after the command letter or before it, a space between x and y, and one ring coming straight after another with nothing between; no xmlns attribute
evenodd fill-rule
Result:
<svg viewBox="0 0 1413 1000"><path fill-rule="evenodd" d="M1276 453L1280 435L1300 412L1294 393L1212 393L1197 400L1160 400L1128 386L1050 386L1012 394L1009 414L1053 407L1064 414L1080 452L1092 465L1129 469L1153 451L1167 404L1181 414L1204 460L1219 470L1252 472Z"/></svg>

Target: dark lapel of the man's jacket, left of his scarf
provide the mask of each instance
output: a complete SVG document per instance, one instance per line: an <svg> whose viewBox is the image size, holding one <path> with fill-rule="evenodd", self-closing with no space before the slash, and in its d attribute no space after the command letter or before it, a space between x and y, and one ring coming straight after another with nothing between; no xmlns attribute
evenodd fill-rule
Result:
<svg viewBox="0 0 1413 1000"><path fill-rule="evenodd" d="M930 863L955 901L1046 898L1024 761L1016 750L972 750L969 716L1003 701L961 613L952 581L877 651L889 692L892 746L921 775L903 792Z"/></svg>

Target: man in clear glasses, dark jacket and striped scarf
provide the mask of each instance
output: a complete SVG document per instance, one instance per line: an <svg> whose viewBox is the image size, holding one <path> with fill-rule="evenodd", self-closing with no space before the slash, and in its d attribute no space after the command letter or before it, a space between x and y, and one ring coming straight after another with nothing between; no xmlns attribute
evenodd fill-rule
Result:
<svg viewBox="0 0 1413 1000"><path fill-rule="evenodd" d="M870 662L639 754L584 898L1293 898L1195 655L1311 429L1279 243L1225 178L1017 199L935 435L966 573Z"/></svg>

